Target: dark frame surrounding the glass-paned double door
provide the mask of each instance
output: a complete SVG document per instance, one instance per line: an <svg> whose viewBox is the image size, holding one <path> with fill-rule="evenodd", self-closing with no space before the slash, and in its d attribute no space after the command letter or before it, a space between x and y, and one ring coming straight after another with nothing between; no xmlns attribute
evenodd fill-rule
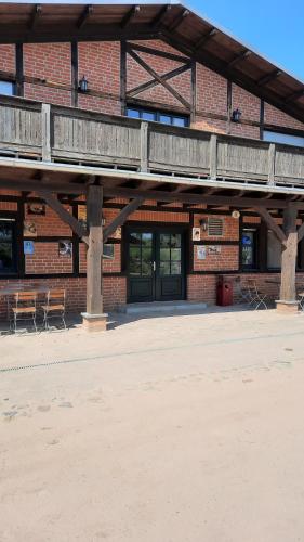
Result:
<svg viewBox="0 0 304 542"><path fill-rule="evenodd" d="M157 209L156 209L157 210ZM168 222L144 222L137 220L129 220L124 223L122 228L122 250L121 250L121 270L125 274L127 278L127 302L136 302L130 301L130 281L129 281L129 272L128 272L128 235L130 230L137 232L163 232L163 233L181 233L182 234L182 296L181 300L187 299L187 273L189 267L189 258L187 258L189 254L189 223L188 222L177 222L177 223L168 223ZM155 247L154 247L155 250ZM154 286L155 289L155 286ZM154 299L155 300L155 299ZM148 301L147 301L148 302ZM159 301L161 302L161 301ZM166 301L163 301L166 302Z"/></svg>

